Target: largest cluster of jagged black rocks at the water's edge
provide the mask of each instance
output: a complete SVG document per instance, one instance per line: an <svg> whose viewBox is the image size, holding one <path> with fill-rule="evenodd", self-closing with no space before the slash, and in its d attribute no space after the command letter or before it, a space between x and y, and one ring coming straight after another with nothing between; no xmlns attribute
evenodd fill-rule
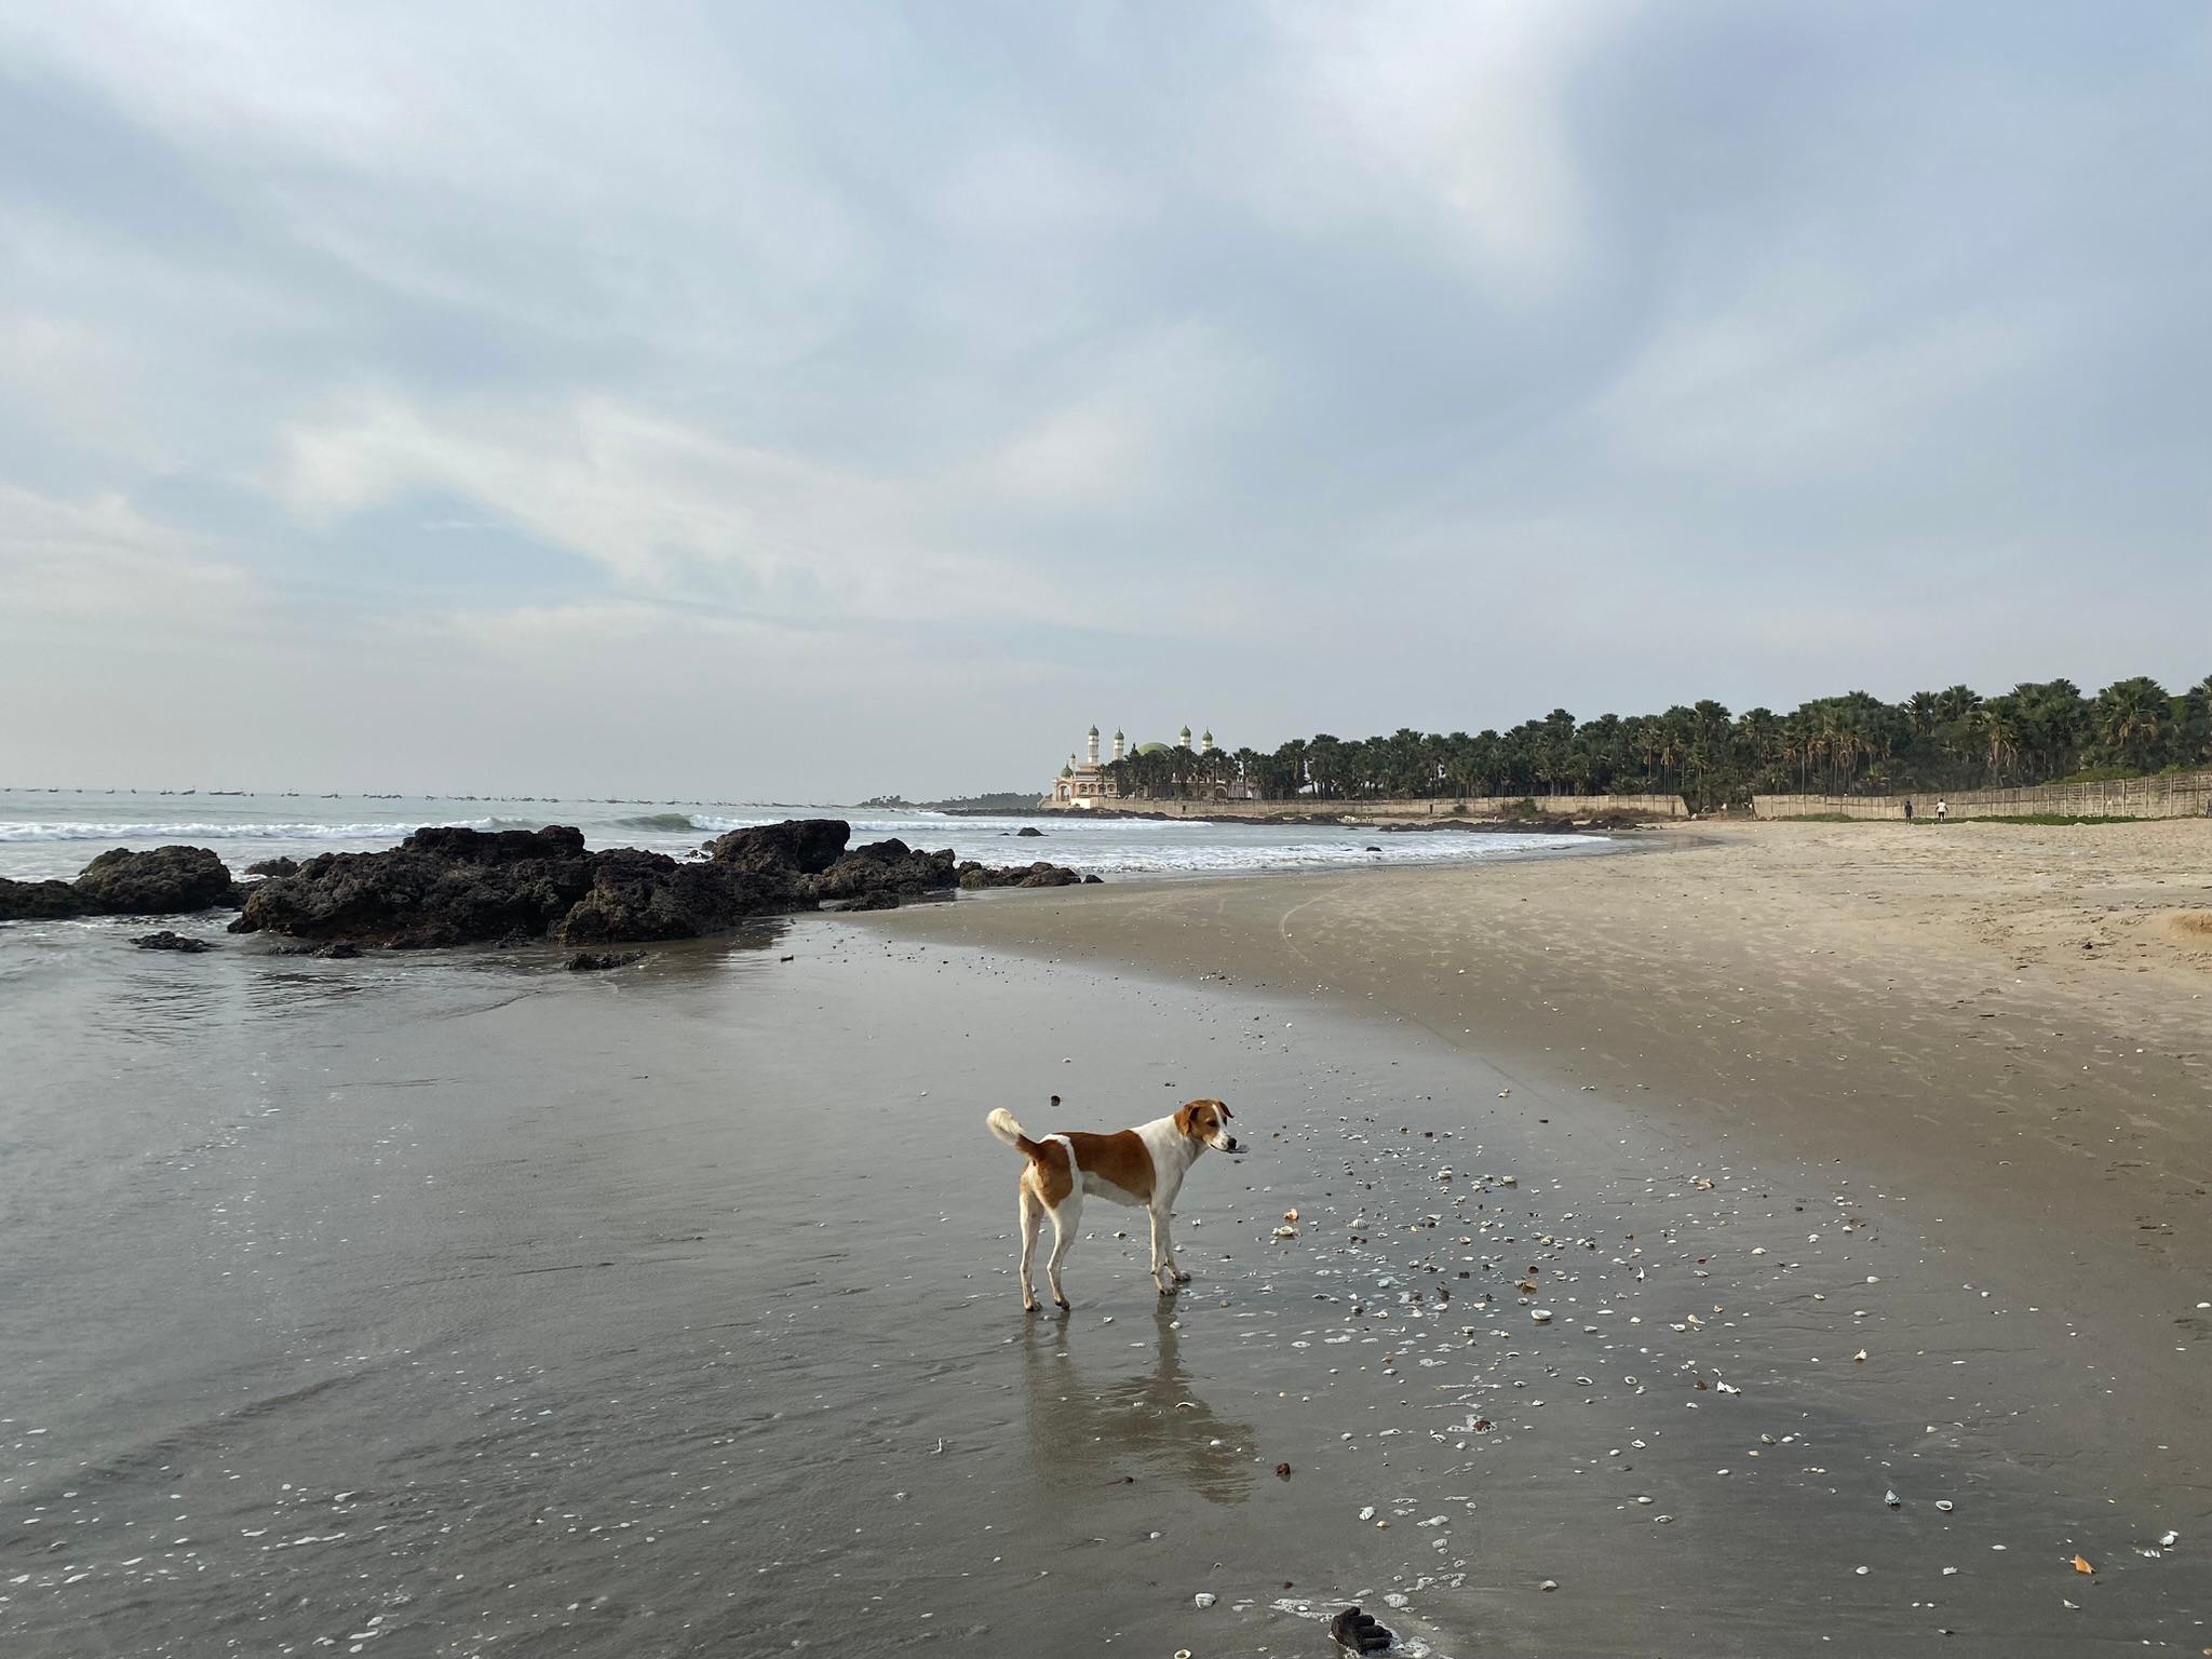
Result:
<svg viewBox="0 0 2212 1659"><path fill-rule="evenodd" d="M332 852L246 891L234 933L394 949L555 940L635 945L723 933L748 916L887 909L956 887L1064 887L1060 865L987 869L905 841L847 849L843 818L734 830L699 858L613 847L546 830L418 830L387 852Z"/></svg>

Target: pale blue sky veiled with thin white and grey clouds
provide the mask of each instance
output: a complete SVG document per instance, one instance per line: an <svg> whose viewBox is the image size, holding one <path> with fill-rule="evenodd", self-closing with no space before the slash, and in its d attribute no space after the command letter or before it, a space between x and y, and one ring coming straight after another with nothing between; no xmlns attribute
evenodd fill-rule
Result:
<svg viewBox="0 0 2212 1659"><path fill-rule="evenodd" d="M0 783L2192 681L2208 20L0 0Z"/></svg>

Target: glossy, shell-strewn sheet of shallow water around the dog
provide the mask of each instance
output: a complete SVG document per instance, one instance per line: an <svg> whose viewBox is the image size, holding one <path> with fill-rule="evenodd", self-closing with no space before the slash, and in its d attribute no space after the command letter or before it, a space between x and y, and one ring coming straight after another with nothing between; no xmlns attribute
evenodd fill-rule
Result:
<svg viewBox="0 0 2212 1659"><path fill-rule="evenodd" d="M1318 1655L1354 1595L1462 1659L2205 1644L2203 1528L2039 1416L2057 1332L1845 1170L1285 987L11 927L0 1075L13 1652ZM1046 1093L1237 1108L1181 1298L1093 1201L1020 1312L982 1115Z"/></svg>

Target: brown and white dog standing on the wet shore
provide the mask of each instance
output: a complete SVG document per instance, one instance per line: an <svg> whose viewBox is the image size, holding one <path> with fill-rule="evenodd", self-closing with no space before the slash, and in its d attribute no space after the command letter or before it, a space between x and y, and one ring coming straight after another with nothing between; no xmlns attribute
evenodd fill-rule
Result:
<svg viewBox="0 0 2212 1659"><path fill-rule="evenodd" d="M1053 1095L1053 1106L1060 1106L1060 1095ZM1060 1263L1075 1248L1086 1192L1110 1203L1148 1210L1152 1217L1152 1283L1159 1285L1161 1296L1172 1296L1177 1285L1188 1285L1190 1274L1175 1265L1175 1239L1168 1234L1168 1223L1175 1219L1175 1194L1183 1190L1183 1175L1208 1146L1217 1152L1243 1152L1237 1137L1230 1135L1230 1108L1219 1099L1192 1099L1166 1117L1113 1135L1055 1130L1031 1139L1004 1106L991 1113L987 1119L991 1133L1022 1155L1022 1307L1037 1312L1037 1292L1029 1283L1029 1259L1035 1254L1037 1223L1044 1217L1053 1219L1053 1254L1044 1263L1044 1279L1053 1287L1053 1301L1062 1307L1068 1305L1060 1290Z"/></svg>

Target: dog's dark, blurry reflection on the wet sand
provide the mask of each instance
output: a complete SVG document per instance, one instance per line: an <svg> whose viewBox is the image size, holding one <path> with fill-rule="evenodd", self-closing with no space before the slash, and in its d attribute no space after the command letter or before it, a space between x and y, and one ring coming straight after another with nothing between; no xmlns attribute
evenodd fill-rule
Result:
<svg viewBox="0 0 2212 1659"><path fill-rule="evenodd" d="M1086 1325L1079 1340L1082 1360L1068 1352L1066 1321L1031 1321L1022 1338L1029 1442L1046 1486L1073 1498L1135 1475L1172 1480L1214 1504L1250 1495L1252 1425L1214 1416L1192 1394L1172 1303L1152 1314L1150 1363L1119 1327Z"/></svg>

